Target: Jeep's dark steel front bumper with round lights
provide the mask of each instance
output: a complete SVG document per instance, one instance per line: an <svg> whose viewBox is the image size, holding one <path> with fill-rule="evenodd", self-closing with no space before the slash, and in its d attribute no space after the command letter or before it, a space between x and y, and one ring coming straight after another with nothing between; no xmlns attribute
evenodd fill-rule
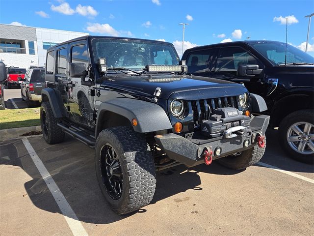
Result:
<svg viewBox="0 0 314 236"><path fill-rule="evenodd" d="M254 117L247 127L251 132L246 132L243 135L233 135L235 137L209 139L208 142L197 145L192 139L184 138L177 134L156 135L155 140L158 146L168 155L169 158L183 163L186 166L195 166L204 163L202 153L205 149L213 151L212 159L218 159L228 156L245 149L252 148L257 145L257 136L264 135L269 124L269 116ZM249 146L244 147L244 141L249 140ZM221 148L219 156L214 154L216 148Z"/></svg>

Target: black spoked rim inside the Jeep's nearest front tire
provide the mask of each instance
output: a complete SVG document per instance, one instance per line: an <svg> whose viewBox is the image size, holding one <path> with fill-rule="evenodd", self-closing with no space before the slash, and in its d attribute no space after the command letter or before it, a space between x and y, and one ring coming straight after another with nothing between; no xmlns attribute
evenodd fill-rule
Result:
<svg viewBox="0 0 314 236"><path fill-rule="evenodd" d="M123 175L117 153L110 144L101 149L100 171L109 196L118 200L122 195Z"/></svg>

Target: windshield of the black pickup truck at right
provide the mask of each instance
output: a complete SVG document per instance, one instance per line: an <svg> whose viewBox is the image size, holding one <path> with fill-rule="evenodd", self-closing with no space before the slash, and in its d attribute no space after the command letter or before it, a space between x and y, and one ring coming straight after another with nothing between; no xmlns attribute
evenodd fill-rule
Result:
<svg viewBox="0 0 314 236"><path fill-rule="evenodd" d="M285 43L255 43L251 44L265 58L269 59L274 65L285 64ZM287 44L287 63L314 63L314 58L309 54Z"/></svg>

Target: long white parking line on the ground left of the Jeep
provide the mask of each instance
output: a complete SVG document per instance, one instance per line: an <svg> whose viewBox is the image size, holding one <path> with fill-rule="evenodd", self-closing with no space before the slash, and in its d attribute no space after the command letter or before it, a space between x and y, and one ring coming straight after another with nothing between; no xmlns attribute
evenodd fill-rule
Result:
<svg viewBox="0 0 314 236"><path fill-rule="evenodd" d="M61 193L60 189L54 182L53 178L47 171L46 167L44 166L43 162L39 159L38 155L36 154L34 148L30 145L27 139L22 139L26 150L28 151L31 159L33 160L35 166L37 167L40 175L45 180L52 196L59 206L65 220L67 221L72 233L74 236L87 236L87 232L85 231L84 227L82 226L81 222L78 220L77 215L74 213L73 209L70 207L69 203Z"/></svg>

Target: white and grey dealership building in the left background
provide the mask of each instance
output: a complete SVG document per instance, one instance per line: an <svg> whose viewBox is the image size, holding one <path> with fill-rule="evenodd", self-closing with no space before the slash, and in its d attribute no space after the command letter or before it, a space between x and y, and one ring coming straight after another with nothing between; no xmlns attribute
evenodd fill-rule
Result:
<svg viewBox="0 0 314 236"><path fill-rule="evenodd" d="M26 69L45 66L49 47L84 35L88 33L0 24L0 61Z"/></svg>

